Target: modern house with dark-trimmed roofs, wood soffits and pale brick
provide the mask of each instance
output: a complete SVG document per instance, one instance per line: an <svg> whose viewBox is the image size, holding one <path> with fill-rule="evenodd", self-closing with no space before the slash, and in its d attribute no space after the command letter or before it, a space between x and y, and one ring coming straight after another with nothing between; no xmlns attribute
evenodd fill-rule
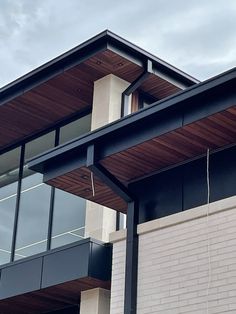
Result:
<svg viewBox="0 0 236 314"><path fill-rule="evenodd" d="M0 314L236 312L236 69L105 31L0 89Z"/></svg>

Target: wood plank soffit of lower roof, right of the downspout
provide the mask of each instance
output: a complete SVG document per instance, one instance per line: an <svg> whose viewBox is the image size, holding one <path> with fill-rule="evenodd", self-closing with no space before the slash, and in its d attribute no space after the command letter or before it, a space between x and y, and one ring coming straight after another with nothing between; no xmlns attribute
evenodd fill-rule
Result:
<svg viewBox="0 0 236 314"><path fill-rule="evenodd" d="M235 143L235 117L236 110L231 108L109 156L101 163L124 184L128 184L205 154L208 148L217 149Z"/></svg>

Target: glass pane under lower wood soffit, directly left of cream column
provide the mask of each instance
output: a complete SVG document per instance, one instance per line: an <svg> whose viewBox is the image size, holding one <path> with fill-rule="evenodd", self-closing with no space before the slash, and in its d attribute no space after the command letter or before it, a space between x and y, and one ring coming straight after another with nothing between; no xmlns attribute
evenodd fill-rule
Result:
<svg viewBox="0 0 236 314"><path fill-rule="evenodd" d="M56 189L51 248L84 238L86 201Z"/></svg>

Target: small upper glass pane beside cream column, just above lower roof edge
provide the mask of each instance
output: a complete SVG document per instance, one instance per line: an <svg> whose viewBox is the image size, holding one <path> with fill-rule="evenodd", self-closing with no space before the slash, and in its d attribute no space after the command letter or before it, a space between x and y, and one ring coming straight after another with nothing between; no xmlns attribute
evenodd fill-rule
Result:
<svg viewBox="0 0 236 314"><path fill-rule="evenodd" d="M91 130L91 114L71 122L60 129L59 144L70 141Z"/></svg>

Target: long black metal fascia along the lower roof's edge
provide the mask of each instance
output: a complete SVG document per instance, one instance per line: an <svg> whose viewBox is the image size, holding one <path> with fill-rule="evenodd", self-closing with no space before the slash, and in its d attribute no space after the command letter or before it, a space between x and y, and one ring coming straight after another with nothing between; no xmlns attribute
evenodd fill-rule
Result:
<svg viewBox="0 0 236 314"><path fill-rule="evenodd" d="M41 172L44 164L59 155L62 156L75 148L87 147L95 141L102 143L102 145L99 144L103 146L103 151L100 149L100 153L103 154L100 158L105 158L122 149L151 139L154 135L161 135L181 127L183 124L227 109L235 102L235 79L236 68L45 152L31 159L29 167ZM115 141L116 145L114 145Z"/></svg>

